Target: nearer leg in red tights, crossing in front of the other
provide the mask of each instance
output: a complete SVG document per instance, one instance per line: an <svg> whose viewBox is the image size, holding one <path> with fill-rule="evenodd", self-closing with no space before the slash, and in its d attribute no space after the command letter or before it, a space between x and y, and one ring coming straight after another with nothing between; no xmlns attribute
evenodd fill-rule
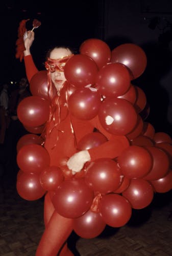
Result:
<svg viewBox="0 0 172 256"><path fill-rule="evenodd" d="M48 222L42 238L39 242L36 256L56 256L62 248L60 255L72 255L65 245L65 241L73 230L73 219L64 218L54 211L53 216ZM63 251L64 250L64 251ZM63 252L66 251L66 254Z"/></svg>

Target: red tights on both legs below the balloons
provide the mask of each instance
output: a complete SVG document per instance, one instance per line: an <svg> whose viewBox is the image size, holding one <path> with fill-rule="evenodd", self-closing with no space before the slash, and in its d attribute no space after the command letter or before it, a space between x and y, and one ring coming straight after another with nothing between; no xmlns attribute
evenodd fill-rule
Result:
<svg viewBox="0 0 172 256"><path fill-rule="evenodd" d="M45 230L39 242L36 256L72 256L66 240L73 230L73 220L57 213L46 194L44 202Z"/></svg>

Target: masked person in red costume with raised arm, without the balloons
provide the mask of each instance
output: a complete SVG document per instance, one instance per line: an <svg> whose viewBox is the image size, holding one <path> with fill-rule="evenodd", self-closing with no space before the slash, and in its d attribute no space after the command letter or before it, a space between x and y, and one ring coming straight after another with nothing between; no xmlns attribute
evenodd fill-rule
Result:
<svg viewBox="0 0 172 256"><path fill-rule="evenodd" d="M33 41L34 32L29 31L24 40L26 50L23 51L29 81L38 72L30 53ZM71 56L72 52L69 48L54 48L50 51L50 56L46 61L46 69L57 89L57 95L53 98L52 104L55 105L58 102L60 116L57 108L54 115L56 120L50 121L47 126L44 147L50 155L51 166L61 166L61 162L68 159L66 164L71 170L71 174L75 175L82 170L87 161L102 157L113 159L119 156L129 146L129 142L125 136L115 136L105 131L97 116L91 120L80 120L69 114L66 102L68 85L65 81L63 66ZM57 127L53 129L55 124ZM89 150L77 152L76 142L86 134L93 132L94 128L104 134L108 141ZM38 245L36 256L73 255L66 243L73 229L73 219L64 218L57 213L50 193L45 195L44 223L45 230Z"/></svg>

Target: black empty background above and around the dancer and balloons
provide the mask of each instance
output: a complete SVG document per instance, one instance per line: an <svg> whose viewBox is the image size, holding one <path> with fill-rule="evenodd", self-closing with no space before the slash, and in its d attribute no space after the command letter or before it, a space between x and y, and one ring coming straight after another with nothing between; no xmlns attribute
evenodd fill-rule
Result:
<svg viewBox="0 0 172 256"><path fill-rule="evenodd" d="M48 49L67 45L79 49L88 38L107 42L111 50L132 42L148 58L145 72L132 81L146 94L150 121L157 132L171 135L172 125L172 1L171 0L86 0L86 1L1 1L1 80L25 76L24 63L15 58L17 29L22 19L37 18L32 55L38 70Z"/></svg>

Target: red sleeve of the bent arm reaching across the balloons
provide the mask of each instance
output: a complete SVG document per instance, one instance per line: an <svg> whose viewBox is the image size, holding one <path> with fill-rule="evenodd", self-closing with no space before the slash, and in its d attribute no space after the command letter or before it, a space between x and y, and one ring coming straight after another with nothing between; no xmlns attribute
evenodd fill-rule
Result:
<svg viewBox="0 0 172 256"><path fill-rule="evenodd" d="M101 125L98 116L90 120L91 123L99 130L102 134L104 134L108 141L101 144L100 146L90 148L88 150L91 161L98 158L116 158L118 157L122 151L127 148L129 144L129 140L126 136L117 136L108 133Z"/></svg>

